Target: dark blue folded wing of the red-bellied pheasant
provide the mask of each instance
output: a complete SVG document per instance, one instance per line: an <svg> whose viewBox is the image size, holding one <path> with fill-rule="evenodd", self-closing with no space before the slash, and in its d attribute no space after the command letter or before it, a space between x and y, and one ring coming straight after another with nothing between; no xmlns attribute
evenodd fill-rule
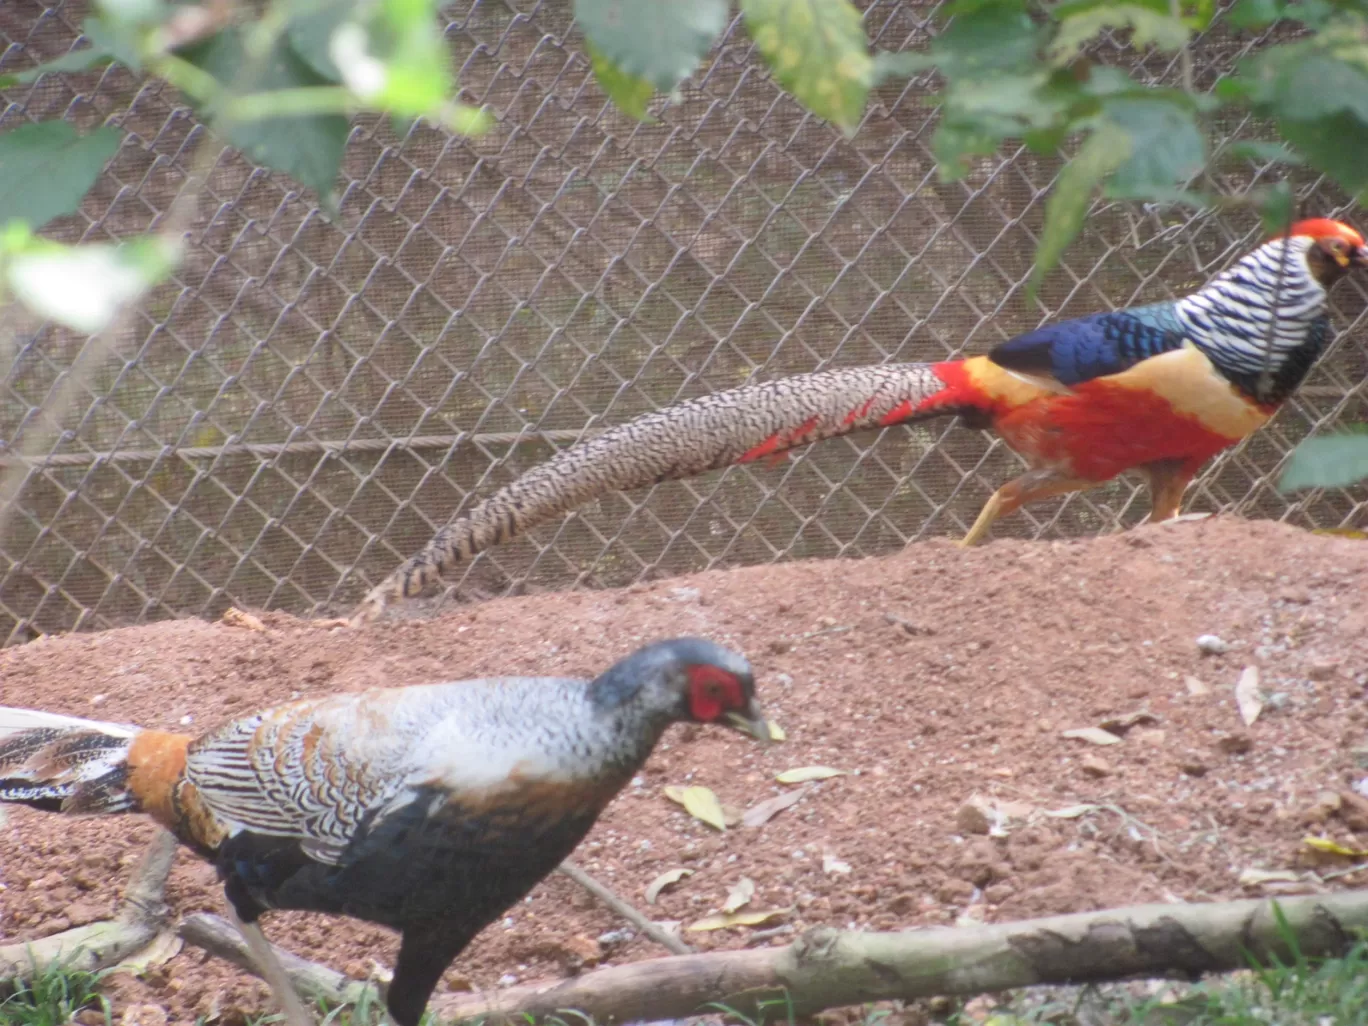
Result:
<svg viewBox="0 0 1368 1026"><path fill-rule="evenodd" d="M1182 343L1172 305L1160 302L1048 324L1003 342L988 358L1008 371L1073 386L1120 373Z"/></svg>

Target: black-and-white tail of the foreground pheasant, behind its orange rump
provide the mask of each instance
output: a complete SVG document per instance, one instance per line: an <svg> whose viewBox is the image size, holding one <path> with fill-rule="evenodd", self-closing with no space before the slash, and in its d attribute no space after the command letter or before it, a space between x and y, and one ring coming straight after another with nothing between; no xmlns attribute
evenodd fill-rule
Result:
<svg viewBox="0 0 1368 1026"><path fill-rule="evenodd" d="M0 706L0 802L63 813L124 813L137 728Z"/></svg>

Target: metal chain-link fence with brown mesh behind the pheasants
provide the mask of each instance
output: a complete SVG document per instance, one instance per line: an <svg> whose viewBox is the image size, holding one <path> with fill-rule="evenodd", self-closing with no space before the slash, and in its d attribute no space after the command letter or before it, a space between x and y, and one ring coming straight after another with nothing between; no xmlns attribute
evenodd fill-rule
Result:
<svg viewBox="0 0 1368 1026"><path fill-rule="evenodd" d="M915 49L934 3L874 0L876 45ZM82 4L0 4L0 71L79 40ZM769 81L732 25L679 104L637 124L592 81L569 0L445 8L479 140L383 118L353 124L341 216L223 150L174 279L98 350L7 313L0 356L0 637L228 605L328 614L461 512L586 430L747 380L984 352L1044 320L1187 291L1259 241L1253 215L1097 205L1038 301L1025 282L1056 160L1005 150L937 178L928 81L881 88L854 138ZM1192 49L1198 86L1259 37ZM1099 59L1131 60L1103 40ZM1176 81L1146 59L1152 81ZM0 130L62 116L127 138L52 233L155 228L202 127L172 89L111 67L3 94ZM1223 141L1259 126L1230 122ZM1224 161L1239 193L1268 168ZM1347 209L1306 178L1308 213ZM1364 409L1364 298L1267 430L1189 495L1305 527L1363 525L1364 490L1282 497L1293 446ZM1019 461L932 423L607 495L475 561L477 598L616 586L709 566L858 557L959 535ZM999 535L1118 529L1138 482L1041 503ZM1138 501L1137 501L1138 499Z"/></svg>

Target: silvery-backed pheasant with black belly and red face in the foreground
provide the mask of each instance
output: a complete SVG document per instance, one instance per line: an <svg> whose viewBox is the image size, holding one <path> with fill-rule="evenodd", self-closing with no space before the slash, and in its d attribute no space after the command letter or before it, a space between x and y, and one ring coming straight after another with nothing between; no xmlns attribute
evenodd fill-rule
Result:
<svg viewBox="0 0 1368 1026"><path fill-rule="evenodd" d="M401 932L416 1026L451 960L570 854L674 722L769 729L747 661L659 642L591 683L513 677L308 699L201 737L0 707L0 802L141 811L211 859L276 1000L268 908Z"/></svg>

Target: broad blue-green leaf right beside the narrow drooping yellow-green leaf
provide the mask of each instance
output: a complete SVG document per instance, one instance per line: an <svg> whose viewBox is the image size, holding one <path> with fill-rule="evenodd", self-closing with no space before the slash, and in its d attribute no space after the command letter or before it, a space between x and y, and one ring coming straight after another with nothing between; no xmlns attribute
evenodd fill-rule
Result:
<svg viewBox="0 0 1368 1026"><path fill-rule="evenodd" d="M1108 100L1107 120L1130 135L1130 157L1107 183L1118 198L1171 190L1207 163L1207 138L1192 111L1163 100Z"/></svg>

